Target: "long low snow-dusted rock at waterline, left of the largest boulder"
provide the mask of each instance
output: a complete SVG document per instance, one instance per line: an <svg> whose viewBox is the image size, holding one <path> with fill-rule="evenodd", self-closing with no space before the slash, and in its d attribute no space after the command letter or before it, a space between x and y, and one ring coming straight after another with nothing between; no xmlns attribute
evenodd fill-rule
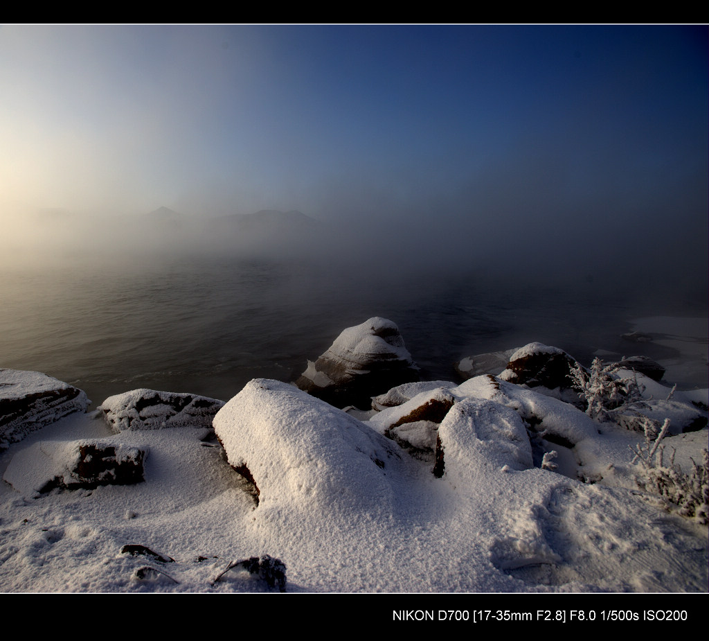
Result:
<svg viewBox="0 0 709 641"><path fill-rule="evenodd" d="M214 415L223 405L224 401L216 398L141 388L109 396L98 409L118 433L164 427L211 428Z"/></svg>

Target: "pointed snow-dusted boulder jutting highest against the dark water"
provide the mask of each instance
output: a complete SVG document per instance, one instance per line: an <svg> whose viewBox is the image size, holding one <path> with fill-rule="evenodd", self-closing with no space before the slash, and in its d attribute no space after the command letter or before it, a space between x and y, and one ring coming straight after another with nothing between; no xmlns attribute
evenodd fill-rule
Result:
<svg viewBox="0 0 709 641"><path fill-rule="evenodd" d="M308 361L296 385L331 405L364 409L372 396L418 378L396 324L374 317L348 327L315 363Z"/></svg>

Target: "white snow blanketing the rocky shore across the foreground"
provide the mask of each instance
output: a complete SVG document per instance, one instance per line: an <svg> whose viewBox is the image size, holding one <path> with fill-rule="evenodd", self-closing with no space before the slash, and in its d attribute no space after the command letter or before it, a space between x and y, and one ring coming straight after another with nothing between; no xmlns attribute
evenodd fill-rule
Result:
<svg viewBox="0 0 709 641"><path fill-rule="evenodd" d="M707 527L631 482L642 434L488 377L437 394L456 400L437 427L442 478L432 456L382 435L405 406L363 422L253 381L215 425L230 463L250 466L258 501L209 429L115 434L100 416L65 417L0 454L13 479L0 484L0 590L271 591L240 567L225 572L269 554L286 565L288 592L707 591ZM525 412L570 441L537 442L558 452L557 471L540 468ZM47 471L33 452L86 438L147 449L145 482L39 494ZM688 469L708 432L666 442ZM603 478L581 483L579 471ZM174 561L121 553L130 544Z"/></svg>

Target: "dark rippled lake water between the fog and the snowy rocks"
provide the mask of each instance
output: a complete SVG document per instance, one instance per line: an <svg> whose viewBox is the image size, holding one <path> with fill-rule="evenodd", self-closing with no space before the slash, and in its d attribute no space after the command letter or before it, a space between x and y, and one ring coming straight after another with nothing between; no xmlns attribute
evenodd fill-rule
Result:
<svg viewBox="0 0 709 641"><path fill-rule="evenodd" d="M66 380L95 404L141 387L228 400L251 378L294 380L342 329L372 316L398 324L423 378L456 380L460 358L530 341L586 363L596 349L625 354L629 319L668 312L588 297L585 281L505 285L484 273L306 254L94 257L5 274L0 366Z"/></svg>

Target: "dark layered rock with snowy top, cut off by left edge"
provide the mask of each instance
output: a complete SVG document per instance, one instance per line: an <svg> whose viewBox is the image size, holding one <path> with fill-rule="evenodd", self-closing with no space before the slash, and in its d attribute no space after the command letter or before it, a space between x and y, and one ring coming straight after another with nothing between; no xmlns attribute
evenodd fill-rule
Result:
<svg viewBox="0 0 709 641"><path fill-rule="evenodd" d="M91 401L73 385L40 372L0 369L0 449Z"/></svg>

